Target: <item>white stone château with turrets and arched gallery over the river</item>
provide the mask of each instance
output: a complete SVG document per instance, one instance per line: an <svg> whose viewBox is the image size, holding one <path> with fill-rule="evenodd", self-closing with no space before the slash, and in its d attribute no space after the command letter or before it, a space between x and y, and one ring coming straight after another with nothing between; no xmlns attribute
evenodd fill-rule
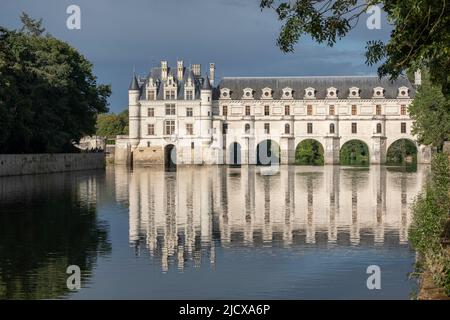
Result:
<svg viewBox="0 0 450 320"><path fill-rule="evenodd" d="M322 145L326 164L338 164L351 140L383 164L399 139L413 141L418 162L428 163L430 148L417 145L408 114L415 77L226 77L215 86L214 63L202 76L199 64L161 61L145 78L133 76L129 136L117 139L116 163L292 164L306 139Z"/></svg>

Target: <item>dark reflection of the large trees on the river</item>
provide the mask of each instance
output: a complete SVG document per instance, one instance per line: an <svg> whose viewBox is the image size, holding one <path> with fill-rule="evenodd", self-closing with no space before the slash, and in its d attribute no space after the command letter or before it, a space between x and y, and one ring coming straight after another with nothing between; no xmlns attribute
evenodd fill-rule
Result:
<svg viewBox="0 0 450 320"><path fill-rule="evenodd" d="M85 283L111 250L96 215L104 180L104 172L0 178L0 299L63 297L73 264Z"/></svg>

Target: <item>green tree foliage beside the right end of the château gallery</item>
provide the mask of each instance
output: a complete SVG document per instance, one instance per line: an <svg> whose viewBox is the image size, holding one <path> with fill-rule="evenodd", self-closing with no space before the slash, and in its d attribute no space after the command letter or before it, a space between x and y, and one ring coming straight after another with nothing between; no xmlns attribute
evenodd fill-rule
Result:
<svg viewBox="0 0 450 320"><path fill-rule="evenodd" d="M442 149L450 140L450 101L443 95L441 86L433 85L427 71L422 72L419 87L409 113L414 120L412 133L421 144Z"/></svg>

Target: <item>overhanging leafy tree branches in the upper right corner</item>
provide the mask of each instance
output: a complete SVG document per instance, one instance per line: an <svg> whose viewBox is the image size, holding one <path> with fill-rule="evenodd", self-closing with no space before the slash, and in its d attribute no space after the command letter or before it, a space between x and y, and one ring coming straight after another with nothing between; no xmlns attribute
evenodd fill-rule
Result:
<svg viewBox="0 0 450 320"><path fill-rule="evenodd" d="M372 5L386 12L392 25L387 43L367 42L366 63L381 62L380 76L396 78L404 71L427 67L431 80L450 94L450 4L446 0L260 0L282 21L277 45L291 52L304 35L333 46L358 23Z"/></svg>

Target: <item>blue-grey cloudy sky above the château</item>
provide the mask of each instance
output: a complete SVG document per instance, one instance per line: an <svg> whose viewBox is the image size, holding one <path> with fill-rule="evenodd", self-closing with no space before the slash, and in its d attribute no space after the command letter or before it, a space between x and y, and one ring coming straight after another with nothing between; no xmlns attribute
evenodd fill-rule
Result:
<svg viewBox="0 0 450 320"><path fill-rule="evenodd" d="M66 8L81 8L81 30L66 27ZM335 47L303 38L294 53L275 45L281 24L273 12L259 9L259 0L1 0L0 25L20 26L26 11L43 18L53 36L67 41L93 64L100 83L112 85L111 111L127 106L133 68L140 74L168 60L185 64L216 63L224 76L301 76L375 74L364 64L368 40L386 40L390 27L358 27Z"/></svg>

